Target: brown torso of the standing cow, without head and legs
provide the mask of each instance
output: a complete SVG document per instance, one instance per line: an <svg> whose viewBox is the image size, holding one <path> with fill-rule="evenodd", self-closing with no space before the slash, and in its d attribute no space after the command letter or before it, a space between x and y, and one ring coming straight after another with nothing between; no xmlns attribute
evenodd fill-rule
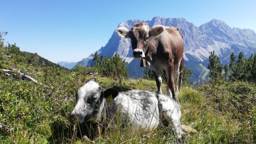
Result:
<svg viewBox="0 0 256 144"><path fill-rule="evenodd" d="M183 57L183 37L177 27L165 27L160 36L149 38L149 54L146 58L151 69L162 69L168 62L177 64Z"/></svg>

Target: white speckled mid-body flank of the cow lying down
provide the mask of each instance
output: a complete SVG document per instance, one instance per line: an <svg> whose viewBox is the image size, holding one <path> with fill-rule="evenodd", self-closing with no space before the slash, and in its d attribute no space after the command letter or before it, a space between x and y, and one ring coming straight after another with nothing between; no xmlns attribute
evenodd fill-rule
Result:
<svg viewBox="0 0 256 144"><path fill-rule="evenodd" d="M155 93L142 90L125 91L116 97L115 102L122 109L122 115L127 116L131 125L140 130L153 130L160 123Z"/></svg>

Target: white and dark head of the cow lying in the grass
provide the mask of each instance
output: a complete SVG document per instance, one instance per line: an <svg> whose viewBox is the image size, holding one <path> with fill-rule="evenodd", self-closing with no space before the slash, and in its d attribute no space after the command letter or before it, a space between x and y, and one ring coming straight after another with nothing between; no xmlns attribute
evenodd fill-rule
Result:
<svg viewBox="0 0 256 144"><path fill-rule="evenodd" d="M99 121L105 101L110 95L116 97L118 91L114 89L104 90L94 78L88 80L77 91L77 104L70 114L70 122L74 124L76 119L79 123Z"/></svg>

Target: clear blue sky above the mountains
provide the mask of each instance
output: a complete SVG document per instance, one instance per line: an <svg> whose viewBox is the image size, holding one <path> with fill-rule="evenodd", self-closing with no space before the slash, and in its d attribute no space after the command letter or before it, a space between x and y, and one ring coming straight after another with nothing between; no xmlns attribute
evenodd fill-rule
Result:
<svg viewBox="0 0 256 144"><path fill-rule="evenodd" d="M82 1L0 0L0 31L5 42L52 62L78 62L108 42L128 19L185 18L199 26L220 19L230 27L256 31L256 1Z"/></svg>

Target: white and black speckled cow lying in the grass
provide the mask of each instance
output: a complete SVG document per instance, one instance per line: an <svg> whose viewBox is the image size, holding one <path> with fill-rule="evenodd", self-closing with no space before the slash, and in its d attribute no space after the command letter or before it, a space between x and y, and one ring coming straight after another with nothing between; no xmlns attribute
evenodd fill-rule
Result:
<svg viewBox="0 0 256 144"><path fill-rule="evenodd" d="M160 93L144 90L118 93L114 89L104 90L95 79L90 79L79 88L77 94L77 104L70 114L72 123L75 123L77 118L80 124L91 121L102 125L104 119L108 126L112 126L120 112L122 120L127 122L128 119L144 132L154 130L160 123L167 121L173 126L178 139L184 133L180 123L179 104ZM112 102L107 101L110 95Z"/></svg>

